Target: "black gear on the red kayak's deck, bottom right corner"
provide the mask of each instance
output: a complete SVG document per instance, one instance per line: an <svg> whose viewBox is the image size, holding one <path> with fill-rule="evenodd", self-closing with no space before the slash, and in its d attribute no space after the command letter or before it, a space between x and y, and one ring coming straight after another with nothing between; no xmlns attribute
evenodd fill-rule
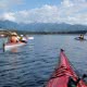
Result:
<svg viewBox="0 0 87 87"><path fill-rule="evenodd" d="M86 74L84 74L82 78L78 77L77 80L74 80L72 77L70 77L67 87L77 87L77 84L80 82L80 79L84 79L85 77L87 77Z"/></svg>

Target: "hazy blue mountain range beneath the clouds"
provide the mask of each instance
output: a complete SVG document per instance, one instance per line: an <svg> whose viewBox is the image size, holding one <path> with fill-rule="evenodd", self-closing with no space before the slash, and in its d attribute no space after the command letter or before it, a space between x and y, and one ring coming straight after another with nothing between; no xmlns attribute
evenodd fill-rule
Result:
<svg viewBox="0 0 87 87"><path fill-rule="evenodd" d="M0 27L4 29L26 30L26 32L77 32L87 30L87 25L71 25L57 23L15 23L11 21L0 21Z"/></svg>

